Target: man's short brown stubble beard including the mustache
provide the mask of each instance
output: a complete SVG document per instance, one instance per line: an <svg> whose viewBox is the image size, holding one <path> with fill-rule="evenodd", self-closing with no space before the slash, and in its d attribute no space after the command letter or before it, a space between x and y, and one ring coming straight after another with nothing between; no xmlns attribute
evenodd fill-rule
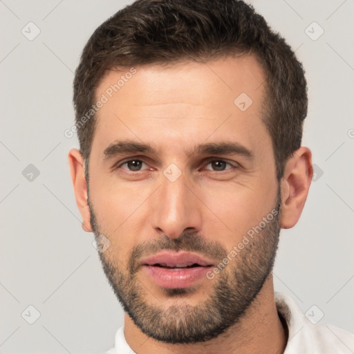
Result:
<svg viewBox="0 0 354 354"><path fill-rule="evenodd" d="M88 205L91 210L91 225L97 237L102 229L97 224L92 205ZM280 232L279 191L273 210L277 210L277 216L214 279L203 281L201 286L207 287L204 293L208 295L204 301L198 301L198 305L188 302L188 297L198 291L195 286L182 289L163 288L163 296L154 294L153 297L150 292L153 290L147 290L139 280L141 268L137 263L147 250L198 252L220 262L230 254L230 250L227 252L220 243L206 243L197 234L183 233L178 239L163 236L148 244L138 244L129 254L127 267L112 252L105 252L109 256L99 252L102 268L124 311L145 335L168 344L208 341L240 322L272 272ZM149 297L157 304L151 304ZM166 297L177 299L176 305L166 308L163 304ZM182 298L184 301L180 301Z"/></svg>

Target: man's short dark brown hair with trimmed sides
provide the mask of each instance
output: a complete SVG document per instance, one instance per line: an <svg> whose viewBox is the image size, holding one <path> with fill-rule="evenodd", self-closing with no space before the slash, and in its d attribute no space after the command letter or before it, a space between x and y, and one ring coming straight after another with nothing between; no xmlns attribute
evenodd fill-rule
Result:
<svg viewBox="0 0 354 354"><path fill-rule="evenodd" d="M265 71L261 118L272 138L280 180L286 160L301 146L308 105L304 69L286 41L243 1L137 0L115 13L93 32L82 52L74 80L76 123L91 109L106 69L203 62L232 53L255 55ZM95 117L78 128L88 163Z"/></svg>

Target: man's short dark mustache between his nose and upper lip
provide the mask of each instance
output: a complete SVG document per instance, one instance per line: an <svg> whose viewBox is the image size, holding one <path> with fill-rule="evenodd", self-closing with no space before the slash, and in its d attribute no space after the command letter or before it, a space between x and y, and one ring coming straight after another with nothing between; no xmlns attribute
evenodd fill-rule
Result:
<svg viewBox="0 0 354 354"><path fill-rule="evenodd" d="M129 257L129 273L133 275L138 270L138 261L162 250L196 252L212 259L224 259L227 251L218 241L205 241L196 233L183 232L177 239L164 235L160 239L140 243L131 250Z"/></svg>

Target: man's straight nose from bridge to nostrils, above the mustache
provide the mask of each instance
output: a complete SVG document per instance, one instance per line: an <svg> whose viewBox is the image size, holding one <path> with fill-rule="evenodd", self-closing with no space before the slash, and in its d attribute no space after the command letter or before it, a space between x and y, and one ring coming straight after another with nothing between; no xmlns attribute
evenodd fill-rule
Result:
<svg viewBox="0 0 354 354"><path fill-rule="evenodd" d="M201 230L201 201L183 174L171 182L162 176L162 185L153 195L151 222L159 234L177 239L185 230Z"/></svg>

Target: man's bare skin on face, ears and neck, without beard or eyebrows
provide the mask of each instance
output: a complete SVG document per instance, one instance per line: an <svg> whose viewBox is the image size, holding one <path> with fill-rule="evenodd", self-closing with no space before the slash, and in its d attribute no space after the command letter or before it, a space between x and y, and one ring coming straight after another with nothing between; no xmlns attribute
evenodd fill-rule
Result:
<svg viewBox="0 0 354 354"><path fill-rule="evenodd" d="M107 71L97 97L129 68ZM90 203L101 232L111 241L104 257L127 268L134 245L167 235L177 239L184 230L218 241L232 250L243 235L274 207L278 181L272 141L261 116L265 75L252 56L223 57L207 64L181 62L169 66L138 66L137 73L98 112L89 160ZM241 111L234 104L240 93L252 98ZM105 158L104 149L115 140L151 144L156 154L124 154ZM187 156L186 150L203 142L238 142L254 158L227 154ZM142 158L142 156L144 158ZM147 165L129 175L117 162L140 156ZM71 178L83 228L92 232L84 162L77 149L69 152ZM225 171L213 171L207 158L229 162ZM237 164L239 165L236 165ZM181 176L173 183L163 171L174 163ZM232 168L232 166L239 166ZM288 159L281 187L282 228L293 227L301 215L313 176L306 147ZM142 272L138 280L149 304L196 306L207 296L211 282L203 279L187 297L169 297ZM283 353L286 328L274 304L272 274L241 321L208 342L165 344L151 339L124 317L124 335L136 353Z"/></svg>

